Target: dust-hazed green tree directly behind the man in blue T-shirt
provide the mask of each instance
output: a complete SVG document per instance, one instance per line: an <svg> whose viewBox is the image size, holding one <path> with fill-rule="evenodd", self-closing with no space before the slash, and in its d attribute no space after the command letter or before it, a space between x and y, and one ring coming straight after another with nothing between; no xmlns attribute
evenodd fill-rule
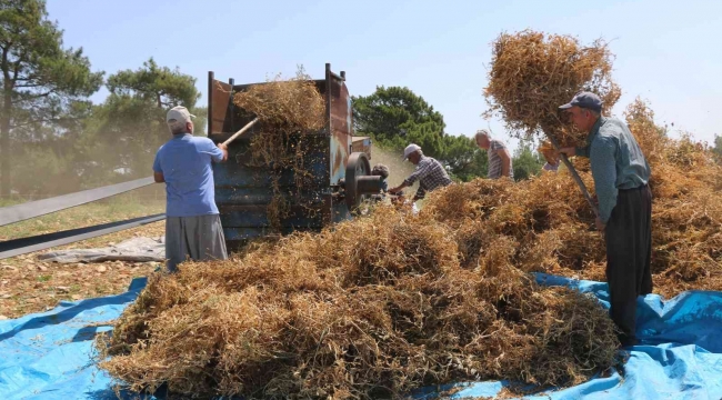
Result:
<svg viewBox="0 0 722 400"><path fill-rule="evenodd" d="M127 180L150 174L158 148L170 139L166 112L176 106L195 112L200 98L195 78L159 67L151 58L138 70L108 78L110 94L96 107L80 148L88 150L83 171L96 180ZM204 132L204 109L194 122Z"/></svg>

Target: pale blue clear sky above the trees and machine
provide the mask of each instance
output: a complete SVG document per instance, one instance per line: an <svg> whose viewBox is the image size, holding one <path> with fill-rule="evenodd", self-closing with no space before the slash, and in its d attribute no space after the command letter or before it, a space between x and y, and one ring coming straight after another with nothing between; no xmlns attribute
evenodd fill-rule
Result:
<svg viewBox="0 0 722 400"><path fill-rule="evenodd" d="M443 4L443 6L442 6ZM107 76L153 57L198 79L207 101L217 79L263 81L303 64L347 71L352 94L408 87L444 116L447 131L472 136L485 121L490 43L503 31L534 29L611 42L623 96L640 96L659 123L699 140L722 132L722 1L190 1L49 0L66 46L82 47ZM94 100L102 101L107 92ZM515 146L513 141L510 144Z"/></svg>

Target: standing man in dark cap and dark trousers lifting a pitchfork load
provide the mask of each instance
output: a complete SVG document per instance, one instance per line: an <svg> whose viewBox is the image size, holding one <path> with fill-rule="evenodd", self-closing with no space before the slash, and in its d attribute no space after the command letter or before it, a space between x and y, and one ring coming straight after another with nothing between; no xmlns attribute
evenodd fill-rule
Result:
<svg viewBox="0 0 722 400"><path fill-rule="evenodd" d="M561 106L576 129L589 132L586 146L559 152L590 159L599 200L596 229L606 242L610 314L622 346L636 341L636 297L652 292L652 192L650 167L626 124L601 114L602 100L580 92Z"/></svg>

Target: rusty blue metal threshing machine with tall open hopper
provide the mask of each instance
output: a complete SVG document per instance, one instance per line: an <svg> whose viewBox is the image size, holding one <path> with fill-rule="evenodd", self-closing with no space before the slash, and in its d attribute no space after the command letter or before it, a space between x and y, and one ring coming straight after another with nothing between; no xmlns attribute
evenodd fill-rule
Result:
<svg viewBox="0 0 722 400"><path fill-rule="evenodd" d="M345 72L337 74L327 63L324 79L314 83L325 98L327 124L303 137L304 146L311 149L303 157L307 170L312 172L312 184L298 188L293 170L277 176L274 183L269 166L251 162L250 142L262 131L262 122L229 144L227 162L214 164L215 202L229 247L272 233L267 211L279 188L290 204L280 219L278 233L281 234L318 231L350 219L365 196L380 191L379 177L371 176L367 152L352 151L351 97ZM233 79L222 82L209 72L208 137L211 140L223 142L253 120L254 116L232 101L233 93L253 84L235 84Z"/></svg>

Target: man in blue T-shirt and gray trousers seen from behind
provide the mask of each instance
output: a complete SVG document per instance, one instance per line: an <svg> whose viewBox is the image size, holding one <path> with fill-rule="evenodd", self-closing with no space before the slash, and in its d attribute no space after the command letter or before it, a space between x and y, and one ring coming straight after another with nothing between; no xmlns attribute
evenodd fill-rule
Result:
<svg viewBox="0 0 722 400"><path fill-rule="evenodd" d="M166 182L166 259L171 272L188 258L228 258L211 167L228 159L228 149L194 137L193 117L181 106L168 111L173 138L158 149L153 162L156 182Z"/></svg>

